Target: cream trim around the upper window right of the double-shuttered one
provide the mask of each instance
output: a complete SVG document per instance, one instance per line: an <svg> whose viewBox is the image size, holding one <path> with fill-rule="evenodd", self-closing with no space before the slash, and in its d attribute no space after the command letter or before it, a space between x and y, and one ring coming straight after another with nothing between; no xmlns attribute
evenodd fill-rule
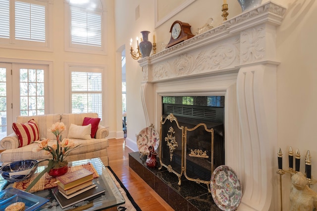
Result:
<svg viewBox="0 0 317 211"><path fill-rule="evenodd" d="M64 0L64 50L69 52L79 52L79 53L91 53L91 54L107 54L107 33L106 33L106 9L105 9L105 1L101 0L103 4L103 8L96 8L94 11L96 13L101 13L102 15L102 36L101 36L101 47L91 46L85 44L73 44L71 43L71 8L78 7L79 9L83 9L78 5L73 5L69 2L69 0Z"/></svg>

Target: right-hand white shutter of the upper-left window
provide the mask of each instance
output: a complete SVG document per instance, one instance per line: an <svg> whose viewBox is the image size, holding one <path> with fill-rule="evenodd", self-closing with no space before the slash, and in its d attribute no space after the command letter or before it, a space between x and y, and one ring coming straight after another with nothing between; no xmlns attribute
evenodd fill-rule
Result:
<svg viewBox="0 0 317 211"><path fill-rule="evenodd" d="M45 6L15 1L15 39L45 42Z"/></svg>

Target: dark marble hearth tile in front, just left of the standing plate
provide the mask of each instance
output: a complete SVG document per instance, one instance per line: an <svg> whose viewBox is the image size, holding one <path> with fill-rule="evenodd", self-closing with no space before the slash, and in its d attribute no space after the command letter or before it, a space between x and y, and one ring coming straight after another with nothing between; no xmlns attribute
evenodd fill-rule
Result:
<svg viewBox="0 0 317 211"><path fill-rule="evenodd" d="M199 208L199 211L221 211L213 202L211 193L198 196L188 201L188 210L194 211Z"/></svg>

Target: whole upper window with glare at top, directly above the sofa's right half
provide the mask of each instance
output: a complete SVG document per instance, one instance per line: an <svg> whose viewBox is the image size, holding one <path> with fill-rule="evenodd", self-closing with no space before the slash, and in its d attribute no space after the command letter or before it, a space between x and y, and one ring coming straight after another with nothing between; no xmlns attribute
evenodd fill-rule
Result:
<svg viewBox="0 0 317 211"><path fill-rule="evenodd" d="M105 54L104 0L65 3L65 50Z"/></svg>

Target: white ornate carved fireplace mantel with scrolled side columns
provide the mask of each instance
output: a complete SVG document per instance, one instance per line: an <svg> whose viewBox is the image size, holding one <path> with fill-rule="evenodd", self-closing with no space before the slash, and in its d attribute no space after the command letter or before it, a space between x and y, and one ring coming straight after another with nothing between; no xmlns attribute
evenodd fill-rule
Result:
<svg viewBox="0 0 317 211"><path fill-rule="evenodd" d="M241 211L278 208L273 201L279 64L275 28L285 11L281 5L265 2L139 60L147 125L159 128L162 96L225 96L225 164L243 184Z"/></svg>

